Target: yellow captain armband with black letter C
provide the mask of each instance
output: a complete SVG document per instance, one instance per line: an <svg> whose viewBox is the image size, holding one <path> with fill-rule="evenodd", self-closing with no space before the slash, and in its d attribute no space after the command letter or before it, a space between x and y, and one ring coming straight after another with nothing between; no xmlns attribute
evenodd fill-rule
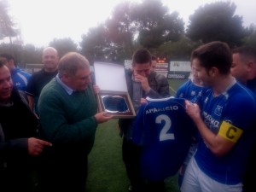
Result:
<svg viewBox="0 0 256 192"><path fill-rule="evenodd" d="M232 143L236 143L241 137L242 130L229 122L223 121L219 127L218 135L224 137Z"/></svg>

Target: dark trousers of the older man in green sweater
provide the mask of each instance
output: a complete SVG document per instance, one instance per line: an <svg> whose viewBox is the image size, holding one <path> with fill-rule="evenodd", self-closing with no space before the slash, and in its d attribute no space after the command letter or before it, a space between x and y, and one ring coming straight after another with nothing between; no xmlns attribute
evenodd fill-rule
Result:
<svg viewBox="0 0 256 192"><path fill-rule="evenodd" d="M84 192L88 172L87 157L72 158L41 159L38 163L38 191Z"/></svg>

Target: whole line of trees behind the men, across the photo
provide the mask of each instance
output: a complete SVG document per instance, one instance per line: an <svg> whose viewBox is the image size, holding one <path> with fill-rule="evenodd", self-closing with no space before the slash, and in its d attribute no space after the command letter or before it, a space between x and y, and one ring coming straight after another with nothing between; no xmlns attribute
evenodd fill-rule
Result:
<svg viewBox="0 0 256 192"><path fill-rule="evenodd" d="M17 30L8 15L8 8L6 0L0 0L0 39L9 38L9 44L0 44L0 53L15 55L21 67L26 63L41 63L43 48L17 41L19 34L15 37ZM213 40L224 41L231 48L240 45L256 47L256 26L242 26L242 16L235 12L235 3L207 3L190 15L189 25L185 28L179 14L170 13L160 0L125 1L116 5L107 20L81 34L81 42L55 38L49 45L55 47L60 56L68 51L79 51L91 64L94 61L123 64L125 59L131 59L135 49L141 47L167 61L189 60L195 47Z"/></svg>

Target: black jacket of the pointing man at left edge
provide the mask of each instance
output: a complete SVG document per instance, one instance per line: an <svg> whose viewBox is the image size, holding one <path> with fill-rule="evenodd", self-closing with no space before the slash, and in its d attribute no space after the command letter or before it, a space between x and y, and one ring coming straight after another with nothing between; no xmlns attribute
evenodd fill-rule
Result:
<svg viewBox="0 0 256 192"><path fill-rule="evenodd" d="M26 95L11 94L12 104L0 104L0 167L29 164L28 137L36 137L38 119L28 107ZM5 167L6 168L6 167Z"/></svg>

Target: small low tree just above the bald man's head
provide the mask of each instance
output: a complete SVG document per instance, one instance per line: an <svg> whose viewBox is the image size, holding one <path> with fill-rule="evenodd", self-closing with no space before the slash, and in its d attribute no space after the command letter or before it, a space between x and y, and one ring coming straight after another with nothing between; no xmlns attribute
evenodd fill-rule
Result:
<svg viewBox="0 0 256 192"><path fill-rule="evenodd" d="M49 46L58 50L59 57L70 51L78 51L78 44L75 44L71 38L54 38Z"/></svg>

